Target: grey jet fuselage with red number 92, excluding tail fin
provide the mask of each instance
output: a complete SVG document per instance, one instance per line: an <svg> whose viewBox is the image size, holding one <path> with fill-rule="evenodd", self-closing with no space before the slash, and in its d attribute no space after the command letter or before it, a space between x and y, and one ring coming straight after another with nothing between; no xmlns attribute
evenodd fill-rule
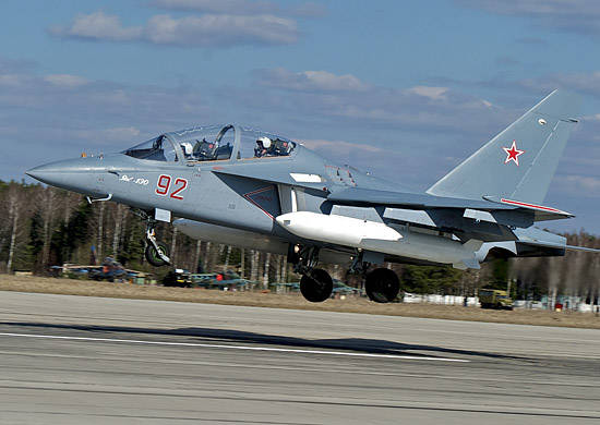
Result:
<svg viewBox="0 0 600 425"><path fill-rule="evenodd" d="M231 137L227 132L233 132L235 136ZM349 256L360 246L335 243L327 239L307 239L286 230L276 221L277 217L293 211L350 217L365 223L369 221L399 229L404 235L399 243L404 244L405 248L384 247L382 252L377 252L377 246L383 245L368 245L372 246L368 250L373 250L374 254L377 254L373 260L379 263L387 260L453 264L458 268L467 268L479 267L478 262L483 260L494 247L502 248L512 256L523 252L516 243L520 236L515 235L512 230L514 227L511 226L517 216L511 216L506 224L481 223L478 217L463 217L465 208L492 205L487 201L399 192L395 183L376 179L347 166L334 165L293 142L293 148L285 155L248 155L249 149L242 149L242 135L245 135L248 144L254 143L260 133L235 125L223 127L216 137L217 142L224 144L223 134L230 136L229 154L226 158L197 160L193 155L188 155L191 150L185 151L185 144L191 149L191 143L188 141L192 141L197 147L202 141L201 133L201 130L191 129L159 136L157 139L160 139L160 143L169 144L172 148L171 160L166 158L163 150L160 155L136 157L135 155L152 149L143 147L135 150L134 147L133 150L128 149L120 154L57 161L36 167L27 173L48 184L97 199L110 198L151 215L158 210L170 211L173 216L194 222L221 227L194 233L193 222L185 223L179 220L180 226L185 224L182 226L182 231L196 238L212 238L216 242L231 244L241 244L245 240L250 241L249 247L279 254L284 254L281 251L289 244L312 245L329 254L338 254L329 255L328 260L344 263L349 260ZM157 139L154 139L154 146ZM367 205L361 205L361 202L340 204L331 201L332 195L336 194L341 194L339 196L343 198L343 194L348 190L364 194ZM379 197L381 194L401 195L409 199L407 203L410 205L420 205L422 201L435 208L444 208L425 211L421 207L411 210L397 209L389 205L379 206L379 198L369 203L369 197L373 193ZM467 204L464 204L465 202ZM513 207L496 205L494 208ZM532 221L525 220L523 227L531 224ZM458 230L456 234L459 236L448 230L453 227ZM235 232L219 232L219 229L239 230L239 233L235 238ZM223 239L219 238L219 233ZM227 234L231 238L228 239ZM244 238L244 234L257 238L253 241L251 238ZM259 240L265 243L257 244ZM471 244L471 240L479 240L480 243ZM564 241L561 239L556 243L560 246ZM387 243L386 246L391 245L394 244ZM464 253L465 250L470 250L468 255ZM403 255L404 252L407 255ZM525 250L526 255L563 253L564 250L561 251L560 247Z"/></svg>

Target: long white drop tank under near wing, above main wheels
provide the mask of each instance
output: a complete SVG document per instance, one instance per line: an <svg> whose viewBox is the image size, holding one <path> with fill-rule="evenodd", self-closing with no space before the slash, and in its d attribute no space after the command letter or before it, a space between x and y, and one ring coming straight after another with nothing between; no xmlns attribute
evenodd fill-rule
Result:
<svg viewBox="0 0 600 425"><path fill-rule="evenodd" d="M276 220L290 233L304 239L452 264L460 269L479 268L475 252L481 247L480 241L463 244L440 235L396 230L383 222L310 211L284 214Z"/></svg>

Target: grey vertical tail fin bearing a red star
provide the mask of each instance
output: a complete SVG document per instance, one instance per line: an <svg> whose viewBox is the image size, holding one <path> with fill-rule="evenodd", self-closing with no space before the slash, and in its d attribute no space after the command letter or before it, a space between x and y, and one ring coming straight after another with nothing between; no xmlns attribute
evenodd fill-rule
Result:
<svg viewBox="0 0 600 425"><path fill-rule="evenodd" d="M552 92L427 192L543 203L579 108L579 96Z"/></svg>

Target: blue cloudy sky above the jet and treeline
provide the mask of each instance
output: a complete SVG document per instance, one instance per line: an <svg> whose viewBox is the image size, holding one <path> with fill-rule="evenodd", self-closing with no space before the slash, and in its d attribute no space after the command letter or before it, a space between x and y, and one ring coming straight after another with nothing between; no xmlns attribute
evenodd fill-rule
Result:
<svg viewBox="0 0 600 425"><path fill-rule="evenodd" d="M2 0L0 179L236 122L427 190L554 88L585 97L544 202L600 234L597 0Z"/></svg>

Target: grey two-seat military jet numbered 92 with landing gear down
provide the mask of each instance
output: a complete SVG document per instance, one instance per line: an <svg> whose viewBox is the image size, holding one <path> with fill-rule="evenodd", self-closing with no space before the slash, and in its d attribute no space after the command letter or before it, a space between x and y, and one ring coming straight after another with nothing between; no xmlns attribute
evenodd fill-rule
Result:
<svg viewBox="0 0 600 425"><path fill-rule="evenodd" d="M164 133L119 154L52 162L27 174L91 203L134 208L147 222L146 257L155 266L169 257L154 227L172 215L192 238L287 254L309 301L332 294L321 260L362 274L369 298L384 303L400 288L385 262L477 269L492 257L586 250L535 227L573 217L541 204L578 104L575 95L551 93L424 193L236 124Z"/></svg>

